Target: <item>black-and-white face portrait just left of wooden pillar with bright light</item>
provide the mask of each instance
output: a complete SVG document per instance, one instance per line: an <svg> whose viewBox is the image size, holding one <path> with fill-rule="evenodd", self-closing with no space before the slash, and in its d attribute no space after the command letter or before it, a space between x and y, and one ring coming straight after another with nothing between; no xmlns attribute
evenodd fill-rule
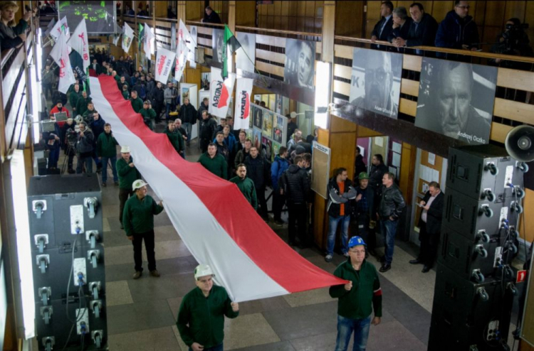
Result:
<svg viewBox="0 0 534 351"><path fill-rule="evenodd" d="M286 65L283 81L296 87L313 89L315 42L286 39Z"/></svg>

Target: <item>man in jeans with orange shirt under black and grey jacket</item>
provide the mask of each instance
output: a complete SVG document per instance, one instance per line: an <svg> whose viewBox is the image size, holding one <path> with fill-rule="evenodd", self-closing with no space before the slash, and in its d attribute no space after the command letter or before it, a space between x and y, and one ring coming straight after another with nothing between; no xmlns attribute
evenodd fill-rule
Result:
<svg viewBox="0 0 534 351"><path fill-rule="evenodd" d="M356 189L348 179L347 168L337 168L335 175L328 182L328 239L326 245L325 261L333 259L335 232L337 225L341 223L341 251L345 257L349 257L347 241L352 212L352 201L356 198Z"/></svg>

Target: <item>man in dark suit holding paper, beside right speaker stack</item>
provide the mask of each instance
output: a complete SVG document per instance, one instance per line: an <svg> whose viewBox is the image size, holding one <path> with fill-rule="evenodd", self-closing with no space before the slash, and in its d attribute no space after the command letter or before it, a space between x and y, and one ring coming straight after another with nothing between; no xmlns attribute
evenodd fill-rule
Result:
<svg viewBox="0 0 534 351"><path fill-rule="evenodd" d="M411 264L424 264L423 273L430 271L439 244L439 234L441 232L441 217L443 216L444 194L441 193L439 184L431 182L429 191L424 194L423 200L419 202L422 207L421 217L419 218L419 256L417 259L410 260Z"/></svg>

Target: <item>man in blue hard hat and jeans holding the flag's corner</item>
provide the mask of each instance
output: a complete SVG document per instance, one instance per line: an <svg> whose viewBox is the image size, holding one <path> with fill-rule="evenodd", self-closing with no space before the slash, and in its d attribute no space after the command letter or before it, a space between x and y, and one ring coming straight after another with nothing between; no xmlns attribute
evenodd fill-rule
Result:
<svg viewBox="0 0 534 351"><path fill-rule="evenodd" d="M352 351L365 351L370 325L379 325L382 319L382 288L377 269L365 259L363 239L352 237L348 246L349 258L337 266L334 275L349 282L330 287L330 296L338 299L335 351L347 350L352 332Z"/></svg>

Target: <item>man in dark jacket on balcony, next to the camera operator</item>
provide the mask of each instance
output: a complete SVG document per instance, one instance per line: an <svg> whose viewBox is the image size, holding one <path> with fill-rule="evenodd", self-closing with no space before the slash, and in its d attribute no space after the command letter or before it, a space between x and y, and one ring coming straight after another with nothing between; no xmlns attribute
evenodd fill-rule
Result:
<svg viewBox="0 0 534 351"><path fill-rule="evenodd" d="M454 10L449 11L439 23L436 46L475 51L479 42L478 28L473 17L469 16L468 1L454 1Z"/></svg>

